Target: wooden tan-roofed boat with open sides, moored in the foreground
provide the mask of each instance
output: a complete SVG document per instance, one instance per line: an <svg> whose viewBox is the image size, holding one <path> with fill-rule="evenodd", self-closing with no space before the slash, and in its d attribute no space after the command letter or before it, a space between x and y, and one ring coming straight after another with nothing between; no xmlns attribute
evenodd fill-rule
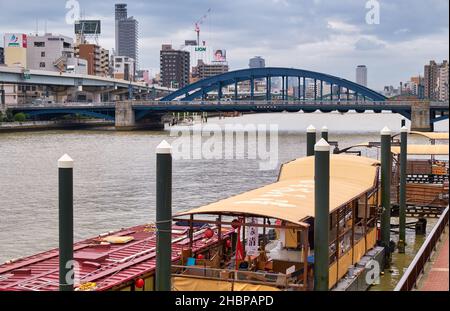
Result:
<svg viewBox="0 0 450 311"><path fill-rule="evenodd" d="M314 157L284 164L276 183L175 216L209 226L205 253L183 250L172 266L173 288L312 290L314 281ZM329 288L377 243L379 162L353 155L330 159ZM222 232L234 229L231 238Z"/></svg>

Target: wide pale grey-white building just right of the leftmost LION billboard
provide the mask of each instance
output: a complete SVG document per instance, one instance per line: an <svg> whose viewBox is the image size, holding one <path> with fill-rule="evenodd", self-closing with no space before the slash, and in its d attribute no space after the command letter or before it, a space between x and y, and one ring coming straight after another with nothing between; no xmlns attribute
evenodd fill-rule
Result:
<svg viewBox="0 0 450 311"><path fill-rule="evenodd" d="M51 33L28 37L28 69L64 72L69 66L76 73L87 74L87 61L75 57L72 38Z"/></svg>

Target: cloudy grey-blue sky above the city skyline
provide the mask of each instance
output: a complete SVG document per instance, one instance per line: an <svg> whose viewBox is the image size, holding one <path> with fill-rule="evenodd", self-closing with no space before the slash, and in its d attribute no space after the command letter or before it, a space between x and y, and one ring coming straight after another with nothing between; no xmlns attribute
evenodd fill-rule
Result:
<svg viewBox="0 0 450 311"><path fill-rule="evenodd" d="M0 0L0 33L48 32L73 36L67 2ZM379 24L368 24L370 4L380 5ZM268 66L325 72L350 80L355 67L369 69L369 87L398 85L423 72L430 59L449 54L448 0L128 0L140 23L140 65L159 70L163 43L195 39L194 23L209 8L202 39L227 50L231 69L261 55ZM100 44L114 47L114 4L79 0L83 17L101 19ZM369 2L369 3L368 3ZM369 4L369 8L366 5ZM0 43L3 39L0 40Z"/></svg>

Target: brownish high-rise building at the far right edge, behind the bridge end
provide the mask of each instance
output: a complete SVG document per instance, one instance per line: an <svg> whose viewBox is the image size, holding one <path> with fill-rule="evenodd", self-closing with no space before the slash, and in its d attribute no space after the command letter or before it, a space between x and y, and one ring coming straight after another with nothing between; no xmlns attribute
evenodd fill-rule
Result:
<svg viewBox="0 0 450 311"><path fill-rule="evenodd" d="M424 68L425 98L430 100L448 100L448 61L437 64L431 60Z"/></svg>

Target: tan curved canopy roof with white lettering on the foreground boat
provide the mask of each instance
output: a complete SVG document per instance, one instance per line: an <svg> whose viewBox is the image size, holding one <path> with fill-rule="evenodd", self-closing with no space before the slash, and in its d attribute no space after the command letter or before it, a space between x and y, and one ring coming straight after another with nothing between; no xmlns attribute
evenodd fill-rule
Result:
<svg viewBox="0 0 450 311"><path fill-rule="evenodd" d="M330 160L330 212L351 202L375 186L373 159L333 155ZM314 157L283 165L279 181L212 203L178 216L194 214L251 215L305 225L314 217Z"/></svg>

